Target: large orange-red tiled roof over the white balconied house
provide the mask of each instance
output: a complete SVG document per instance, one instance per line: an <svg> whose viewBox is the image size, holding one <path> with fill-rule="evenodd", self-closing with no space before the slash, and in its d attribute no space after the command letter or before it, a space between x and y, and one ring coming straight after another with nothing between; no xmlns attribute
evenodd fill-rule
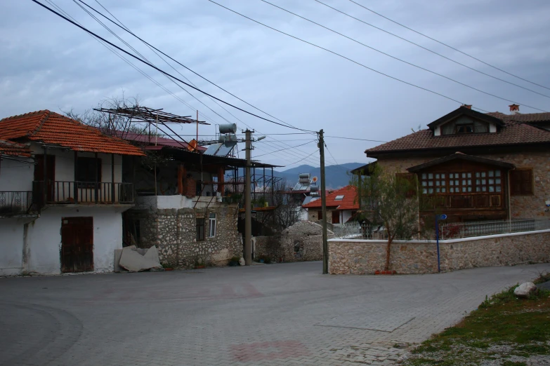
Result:
<svg viewBox="0 0 550 366"><path fill-rule="evenodd" d="M104 135L96 128L48 110L1 119L0 138L40 141L75 151L145 155L141 149L124 140Z"/></svg>

